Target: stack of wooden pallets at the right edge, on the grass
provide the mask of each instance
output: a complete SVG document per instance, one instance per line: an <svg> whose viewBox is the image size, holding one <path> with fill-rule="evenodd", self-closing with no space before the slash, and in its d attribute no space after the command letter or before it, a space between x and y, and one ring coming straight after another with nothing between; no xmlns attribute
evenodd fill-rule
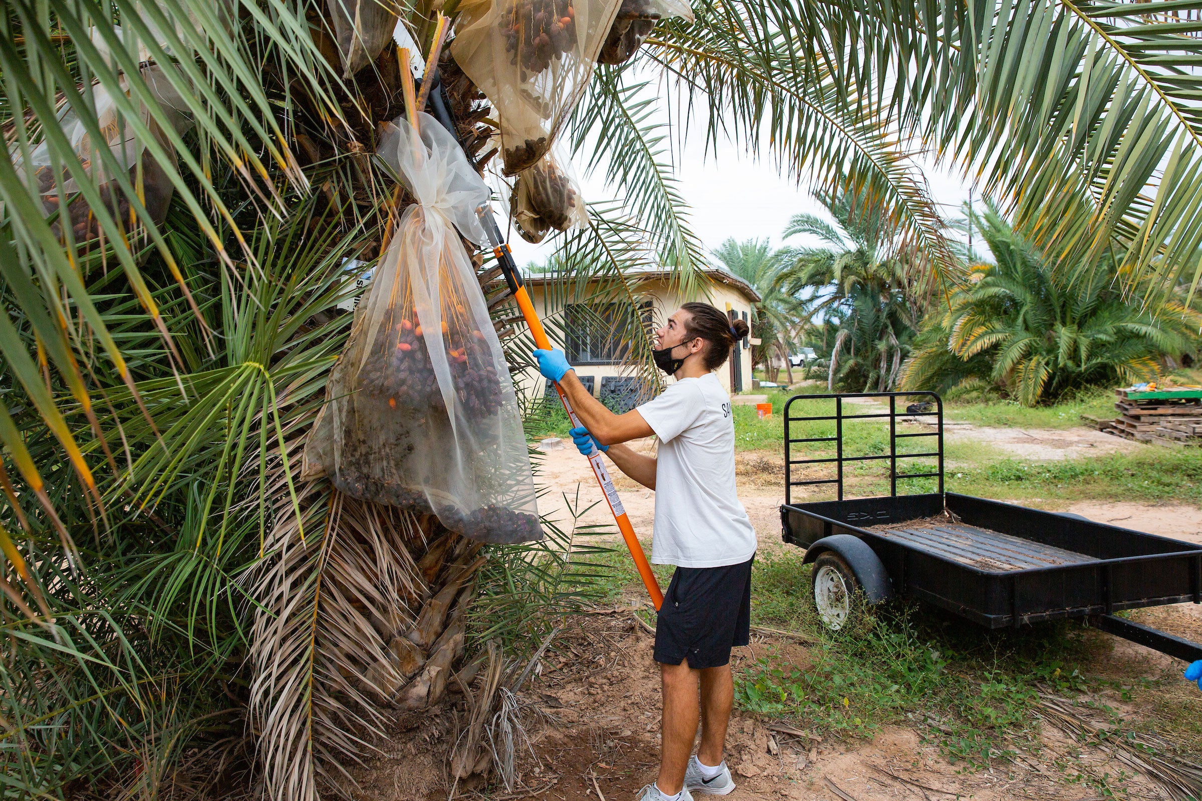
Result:
<svg viewBox="0 0 1202 801"><path fill-rule="evenodd" d="M1099 430L1161 446L1202 444L1202 389L1153 385L1114 394L1119 417L1100 420Z"/></svg>

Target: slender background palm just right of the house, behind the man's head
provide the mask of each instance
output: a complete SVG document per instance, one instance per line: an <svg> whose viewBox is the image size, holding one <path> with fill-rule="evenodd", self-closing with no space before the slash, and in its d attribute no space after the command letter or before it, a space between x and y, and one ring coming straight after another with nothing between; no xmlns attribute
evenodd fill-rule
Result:
<svg viewBox="0 0 1202 801"><path fill-rule="evenodd" d="M748 239L742 243L727 239L714 249L714 258L732 275L746 281L760 294L760 303L752 304L751 336L760 345L751 348L752 370L757 364L770 361L775 353L785 364L789 383L793 383L793 366L789 360L795 347L795 336L804 311L801 300L783 288L783 274L789 267L789 252L775 250L768 240ZM768 375L775 381L775 375Z"/></svg>

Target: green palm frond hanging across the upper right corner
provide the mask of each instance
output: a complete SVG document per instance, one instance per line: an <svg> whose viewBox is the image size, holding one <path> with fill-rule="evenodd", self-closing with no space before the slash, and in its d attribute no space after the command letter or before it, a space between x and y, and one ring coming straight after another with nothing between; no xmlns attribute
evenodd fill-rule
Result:
<svg viewBox="0 0 1202 801"><path fill-rule="evenodd" d="M1196 281L1202 107L1196 22L1173 4L1035 2L921 12L889 1L899 120L1006 198L1058 257L1125 252L1126 280ZM912 127L910 127L912 126Z"/></svg>

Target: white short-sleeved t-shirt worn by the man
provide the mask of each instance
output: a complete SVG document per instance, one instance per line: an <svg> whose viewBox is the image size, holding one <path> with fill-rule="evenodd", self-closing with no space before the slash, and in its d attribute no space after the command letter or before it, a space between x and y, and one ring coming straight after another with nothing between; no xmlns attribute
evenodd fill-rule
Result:
<svg viewBox="0 0 1202 801"><path fill-rule="evenodd" d="M651 561L721 567L755 555L755 528L734 488L734 418L718 376L682 378L638 407L660 438Z"/></svg>

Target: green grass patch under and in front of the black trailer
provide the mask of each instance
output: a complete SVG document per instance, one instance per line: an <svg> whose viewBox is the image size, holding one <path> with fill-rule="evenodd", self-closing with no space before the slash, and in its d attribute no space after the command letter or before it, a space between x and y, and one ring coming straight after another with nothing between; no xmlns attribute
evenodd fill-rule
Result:
<svg viewBox="0 0 1202 801"><path fill-rule="evenodd" d="M926 730L952 761L989 765L1031 747L1037 685L1085 689L1096 636L1059 623L988 632L916 603L894 602L838 633L809 600L802 554L763 558L752 573L752 620L814 640L798 660L778 651L744 664L740 706L817 734L868 737L887 724Z"/></svg>

